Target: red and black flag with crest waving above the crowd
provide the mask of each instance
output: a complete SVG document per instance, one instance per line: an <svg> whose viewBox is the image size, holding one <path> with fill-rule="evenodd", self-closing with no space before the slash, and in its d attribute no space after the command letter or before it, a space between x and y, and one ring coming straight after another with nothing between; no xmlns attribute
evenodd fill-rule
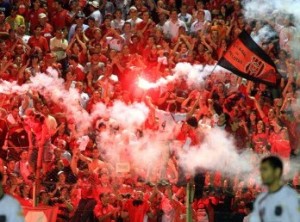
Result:
<svg viewBox="0 0 300 222"><path fill-rule="evenodd" d="M272 59L245 30L231 44L218 65L245 79L269 86L276 86L280 80Z"/></svg>

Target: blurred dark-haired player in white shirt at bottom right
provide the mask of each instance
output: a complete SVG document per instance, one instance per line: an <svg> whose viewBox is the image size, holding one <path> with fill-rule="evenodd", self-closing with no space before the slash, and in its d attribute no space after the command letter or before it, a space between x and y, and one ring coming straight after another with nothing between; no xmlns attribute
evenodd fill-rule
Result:
<svg viewBox="0 0 300 222"><path fill-rule="evenodd" d="M257 197L250 222L300 221L300 198L283 184L282 172L283 163L278 157L268 156L261 161L261 179L268 190Z"/></svg>

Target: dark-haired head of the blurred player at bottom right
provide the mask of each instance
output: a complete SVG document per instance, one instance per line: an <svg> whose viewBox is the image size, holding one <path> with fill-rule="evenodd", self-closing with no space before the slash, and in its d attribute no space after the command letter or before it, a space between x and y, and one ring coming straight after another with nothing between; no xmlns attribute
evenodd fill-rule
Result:
<svg viewBox="0 0 300 222"><path fill-rule="evenodd" d="M262 183L271 186L281 181L283 173L283 163L277 156L268 156L262 159L260 164L260 174Z"/></svg>

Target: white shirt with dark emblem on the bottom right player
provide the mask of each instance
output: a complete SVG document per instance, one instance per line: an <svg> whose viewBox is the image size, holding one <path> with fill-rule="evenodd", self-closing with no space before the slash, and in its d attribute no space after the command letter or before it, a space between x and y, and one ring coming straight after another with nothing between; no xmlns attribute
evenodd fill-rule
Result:
<svg viewBox="0 0 300 222"><path fill-rule="evenodd" d="M285 185L274 193L260 194L250 214L250 222L299 222L300 199L295 190Z"/></svg>

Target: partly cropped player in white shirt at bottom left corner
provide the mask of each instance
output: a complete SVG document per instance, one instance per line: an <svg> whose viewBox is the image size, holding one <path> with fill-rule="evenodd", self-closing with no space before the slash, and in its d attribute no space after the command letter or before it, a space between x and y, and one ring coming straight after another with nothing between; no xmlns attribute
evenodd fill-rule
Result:
<svg viewBox="0 0 300 222"><path fill-rule="evenodd" d="M22 222L23 210L20 203L12 196L5 194L2 187L3 174L0 172L0 221Z"/></svg>

